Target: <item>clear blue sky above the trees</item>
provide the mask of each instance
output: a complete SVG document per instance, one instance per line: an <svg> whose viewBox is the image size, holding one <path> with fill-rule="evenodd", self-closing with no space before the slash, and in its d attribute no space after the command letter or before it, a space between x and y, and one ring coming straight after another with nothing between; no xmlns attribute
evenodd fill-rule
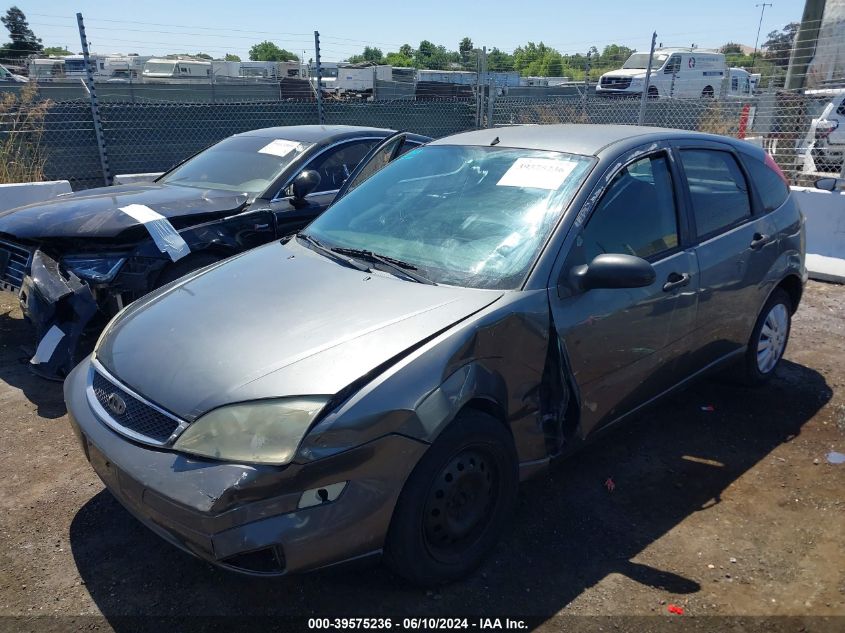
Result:
<svg viewBox="0 0 845 633"><path fill-rule="evenodd" d="M8 1L8 0L7 0ZM230 52L246 59L255 42L269 39L306 58L313 56L313 31L320 31L324 60L340 60L366 44L383 52L421 39L456 49L476 46L511 51L529 40L564 53L590 46L626 44L647 49L652 31L666 46L717 47L728 41L754 45L758 0L15 0L46 46L79 50L75 14L85 17L88 39L98 53L165 54ZM9 3L11 4L11 3ZM774 0L766 7L765 34L798 21L802 0ZM0 3L0 9L5 7ZM0 32L2 33L2 32Z"/></svg>

